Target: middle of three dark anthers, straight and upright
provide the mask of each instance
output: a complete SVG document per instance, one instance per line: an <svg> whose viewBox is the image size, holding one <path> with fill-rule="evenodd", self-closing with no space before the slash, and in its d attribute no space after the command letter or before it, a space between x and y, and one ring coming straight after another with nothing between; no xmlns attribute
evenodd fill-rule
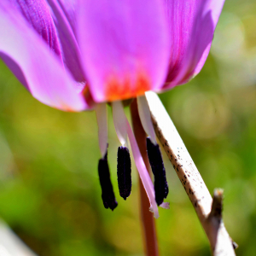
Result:
<svg viewBox="0 0 256 256"><path fill-rule="evenodd" d="M131 158L126 147L119 147L117 169L119 194L126 200L131 194Z"/></svg>

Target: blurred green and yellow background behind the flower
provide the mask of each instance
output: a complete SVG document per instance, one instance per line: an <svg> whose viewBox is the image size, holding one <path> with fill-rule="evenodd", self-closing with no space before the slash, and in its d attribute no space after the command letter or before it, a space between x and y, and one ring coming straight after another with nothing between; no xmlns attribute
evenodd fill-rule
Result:
<svg viewBox="0 0 256 256"><path fill-rule="evenodd" d="M138 179L118 195L119 142L109 114L109 164L119 206L102 205L93 112L44 106L0 63L0 217L42 256L143 255ZM224 189L224 223L256 251L256 3L227 0L211 54L189 84L160 95L208 189ZM166 160L171 202L157 219L160 254L210 255L207 237Z"/></svg>

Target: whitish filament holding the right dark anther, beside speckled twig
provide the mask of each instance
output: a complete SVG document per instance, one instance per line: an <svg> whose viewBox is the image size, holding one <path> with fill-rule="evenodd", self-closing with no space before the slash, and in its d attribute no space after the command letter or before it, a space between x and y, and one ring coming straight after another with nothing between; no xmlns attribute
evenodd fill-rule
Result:
<svg viewBox="0 0 256 256"><path fill-rule="evenodd" d="M156 145L157 143L154 133L154 126L152 124L151 114L148 107L148 101L146 99L146 96L137 97L137 108L144 131L148 133L151 142L154 143L154 145Z"/></svg>

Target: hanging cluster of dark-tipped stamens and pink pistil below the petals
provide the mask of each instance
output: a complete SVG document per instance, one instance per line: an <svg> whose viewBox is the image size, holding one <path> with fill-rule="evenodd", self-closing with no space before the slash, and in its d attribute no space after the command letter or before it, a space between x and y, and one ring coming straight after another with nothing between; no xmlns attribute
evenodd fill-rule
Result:
<svg viewBox="0 0 256 256"><path fill-rule="evenodd" d="M116 134L119 138L121 146L118 148L117 158L117 177L119 183L119 195L124 200L131 195L131 158L128 149L128 138L131 145L131 151L137 166L137 171L142 180L143 186L148 195L150 202L150 210L154 212L154 217L158 218L158 207L168 208L168 203L164 203L164 199L168 195L168 184L166 181L166 169L163 164L160 147L156 143L154 134L154 126L151 121L151 115L148 108L148 102L145 96L137 98L138 112L143 124L144 131L148 133L147 151L148 160L154 174L154 185L148 174L148 170L143 161L142 154L138 148L136 138L134 137L131 125L129 124L123 103L120 101L111 102L113 110L113 124ZM102 201L104 207L114 209L117 207L117 202L113 194L113 186L110 181L108 169L108 125L107 125L107 107L106 104L98 104L96 106L96 117L99 126L99 144L102 153L102 159L99 160L99 176L102 186ZM146 143L146 142L145 142Z"/></svg>

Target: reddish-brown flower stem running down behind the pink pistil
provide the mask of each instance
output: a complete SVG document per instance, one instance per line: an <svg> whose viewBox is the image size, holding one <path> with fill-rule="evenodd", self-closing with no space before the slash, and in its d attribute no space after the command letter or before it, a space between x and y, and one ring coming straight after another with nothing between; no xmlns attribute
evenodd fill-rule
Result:
<svg viewBox="0 0 256 256"><path fill-rule="evenodd" d="M144 163L149 172L148 155L146 148L146 133L143 130L141 120L139 118L137 101L131 102L131 119L134 135L137 140L137 145L143 156ZM140 180L140 201L141 201L141 218L143 222L143 236L144 236L144 247L147 256L158 256L158 244L155 230L155 222L153 213L149 212L148 196L144 190L143 183Z"/></svg>

